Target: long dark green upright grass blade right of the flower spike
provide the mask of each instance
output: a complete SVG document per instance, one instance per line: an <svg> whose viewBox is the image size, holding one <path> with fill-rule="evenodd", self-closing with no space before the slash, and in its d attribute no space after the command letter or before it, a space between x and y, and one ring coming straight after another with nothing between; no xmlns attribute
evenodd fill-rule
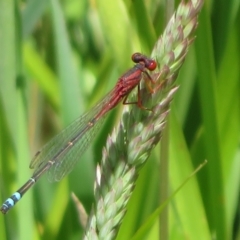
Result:
<svg viewBox="0 0 240 240"><path fill-rule="evenodd" d="M222 176L222 160L219 135L219 115L216 92L216 70L214 65L211 27L206 8L203 8L201 24L196 39L197 71L199 76L200 104L204 126L204 147L208 160L204 201L211 230L216 231L218 239L226 239L226 209ZM204 49L204 50L203 50ZM208 193L208 194L206 194Z"/></svg>

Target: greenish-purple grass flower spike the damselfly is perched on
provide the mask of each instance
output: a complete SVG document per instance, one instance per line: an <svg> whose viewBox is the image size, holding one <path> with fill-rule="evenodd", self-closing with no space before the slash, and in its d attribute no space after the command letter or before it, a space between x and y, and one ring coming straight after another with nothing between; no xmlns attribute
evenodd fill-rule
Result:
<svg viewBox="0 0 240 240"><path fill-rule="evenodd" d="M182 1L155 44L151 56L158 68L150 73L156 81L155 91L150 93L144 84L141 89L142 104L152 111L126 106L121 122L108 137L101 166L97 168L96 204L85 239L113 239L118 233L138 171L161 139L171 100L178 89L174 82L194 40L202 4L202 0Z"/></svg>

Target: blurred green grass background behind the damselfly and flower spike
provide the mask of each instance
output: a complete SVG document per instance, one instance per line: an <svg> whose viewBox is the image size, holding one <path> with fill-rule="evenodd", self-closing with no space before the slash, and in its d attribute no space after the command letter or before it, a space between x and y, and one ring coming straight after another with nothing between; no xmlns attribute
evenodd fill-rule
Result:
<svg viewBox="0 0 240 240"><path fill-rule="evenodd" d="M133 65L133 52L150 55L165 9L159 0L0 1L2 202L31 176L28 165L39 147ZM169 194L204 159L208 164L168 205L169 239L240 239L239 22L239 1L205 1L178 77L169 119ZM67 178L50 184L43 177L0 216L0 239L80 238L70 193L90 211L94 166L120 114L121 106L109 114ZM159 206L158 151L141 171L118 239L131 238ZM146 229L137 239L159 239L158 219Z"/></svg>

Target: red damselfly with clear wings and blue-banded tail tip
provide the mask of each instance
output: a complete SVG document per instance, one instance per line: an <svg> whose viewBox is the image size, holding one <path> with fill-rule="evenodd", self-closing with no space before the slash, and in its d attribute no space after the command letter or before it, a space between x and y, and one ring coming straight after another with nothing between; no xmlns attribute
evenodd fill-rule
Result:
<svg viewBox="0 0 240 240"><path fill-rule="evenodd" d="M118 79L112 91L36 153L30 163L30 168L35 169L32 177L3 203L0 208L3 214L7 213L45 172L48 172L50 181L60 181L67 175L92 142L103 122L103 116L122 100L123 104L129 104L126 102L127 97L136 86L138 99L130 104L137 104L145 109L141 103L140 81L144 73L143 78L148 81L147 84L149 81L154 83L147 70L155 70L157 63L141 53L134 53L132 61L136 63L135 66Z"/></svg>

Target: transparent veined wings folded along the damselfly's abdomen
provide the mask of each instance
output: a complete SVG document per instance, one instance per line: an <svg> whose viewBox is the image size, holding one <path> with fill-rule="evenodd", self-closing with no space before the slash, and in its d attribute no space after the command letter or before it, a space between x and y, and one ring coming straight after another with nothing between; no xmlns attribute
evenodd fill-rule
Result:
<svg viewBox="0 0 240 240"><path fill-rule="evenodd" d="M74 168L100 129L103 116L97 121L94 121L94 118L108 104L111 96L112 92L44 145L30 163L30 168L35 168L34 173L52 161L53 164L48 169L49 181L60 181L66 176Z"/></svg>

